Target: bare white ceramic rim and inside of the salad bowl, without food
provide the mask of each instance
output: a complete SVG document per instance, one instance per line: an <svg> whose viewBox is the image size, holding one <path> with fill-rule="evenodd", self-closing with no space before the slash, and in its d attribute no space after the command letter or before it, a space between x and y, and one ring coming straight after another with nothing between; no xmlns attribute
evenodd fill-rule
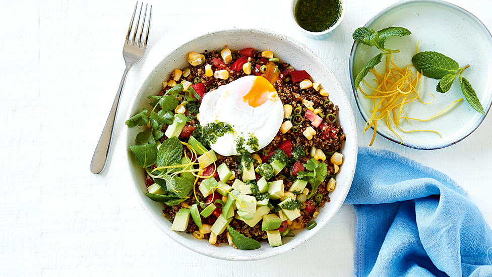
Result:
<svg viewBox="0 0 492 277"><path fill-rule="evenodd" d="M340 124L347 134L347 140L343 146L344 163L340 167L337 176L337 187L330 194L331 202L321 209L316 218L317 226L312 230L302 230L293 238L284 238L284 244L279 247L270 247L268 243L262 243L257 250L242 251L234 249L229 245L220 247L212 246L207 240L198 240L191 234L171 231L171 223L162 217L162 204L150 200L144 183L144 170L140 168L135 160L135 155L128 150L128 171L132 172L135 195L142 208L147 212L152 221L172 240L188 249L203 255L224 260L257 260L280 253L285 253L313 237L328 221L335 215L347 195L355 171L357 158L357 138L355 132L355 121L353 112L342 86L333 72L325 63L306 46L299 42L267 30L244 30L232 29L208 33L191 40L176 48L159 62L140 84L134 95L127 114L127 119L141 112L143 107L148 107L148 95L157 95L162 89L162 81L167 80L170 72L175 68L184 68L188 65L186 55L191 51L203 52L205 50L222 49L228 45L231 49L242 49L254 47L259 50L271 50L282 61L285 61L296 69L309 72L314 80L321 82L323 87L330 92L330 99L340 107ZM127 149L135 144L138 132L143 129L128 128L125 126L127 137Z"/></svg>

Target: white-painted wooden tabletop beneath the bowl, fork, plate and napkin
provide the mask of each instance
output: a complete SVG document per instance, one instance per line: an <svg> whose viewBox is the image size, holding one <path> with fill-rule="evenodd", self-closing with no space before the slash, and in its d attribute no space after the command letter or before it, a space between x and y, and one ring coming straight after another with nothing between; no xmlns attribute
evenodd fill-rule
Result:
<svg viewBox="0 0 492 277"><path fill-rule="evenodd" d="M290 1L155 1L146 57L130 72L105 173L89 164L124 70L121 49L134 1L9 1L0 10L0 273L6 276L349 276L355 215L344 205L313 240L254 262L211 259L166 237L139 207L120 164L126 110L139 82L171 49L223 28L266 28L313 49L349 94L352 32L395 0L347 0L347 14L324 41L304 37ZM486 0L450 0L492 28ZM429 28L433 28L430 27ZM479 54L479 53L477 53ZM492 225L492 119L464 141L413 150L382 137L388 149L448 174ZM368 173L370 174L370 173Z"/></svg>

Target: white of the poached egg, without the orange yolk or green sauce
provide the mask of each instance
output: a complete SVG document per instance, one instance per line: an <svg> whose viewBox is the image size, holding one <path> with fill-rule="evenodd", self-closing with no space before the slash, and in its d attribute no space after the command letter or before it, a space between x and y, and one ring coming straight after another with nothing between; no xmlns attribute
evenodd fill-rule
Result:
<svg viewBox="0 0 492 277"><path fill-rule="evenodd" d="M210 123L228 123L233 132L218 137L210 147L220 155L238 155L236 142L244 139L244 148L250 153L256 150L246 145L251 137L258 138L259 149L272 142L283 121L283 104L276 92L270 92L267 101L257 107L243 99L253 82L261 76L244 76L218 87L203 96L198 120L202 126Z"/></svg>

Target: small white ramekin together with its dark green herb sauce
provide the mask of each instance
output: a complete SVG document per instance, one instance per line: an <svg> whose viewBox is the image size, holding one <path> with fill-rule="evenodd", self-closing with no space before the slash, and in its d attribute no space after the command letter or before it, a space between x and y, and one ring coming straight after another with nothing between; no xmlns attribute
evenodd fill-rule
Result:
<svg viewBox="0 0 492 277"><path fill-rule="evenodd" d="M325 39L342 21L345 0L292 0L291 16L304 35Z"/></svg>

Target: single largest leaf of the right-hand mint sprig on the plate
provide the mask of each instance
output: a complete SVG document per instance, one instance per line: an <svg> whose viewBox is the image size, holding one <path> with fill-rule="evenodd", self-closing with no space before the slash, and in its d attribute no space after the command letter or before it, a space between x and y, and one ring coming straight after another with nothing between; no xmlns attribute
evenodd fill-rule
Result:
<svg viewBox="0 0 492 277"><path fill-rule="evenodd" d="M453 59L435 52L418 52L412 57L412 63L418 72L433 79L441 79L446 74L455 74L460 66Z"/></svg>

